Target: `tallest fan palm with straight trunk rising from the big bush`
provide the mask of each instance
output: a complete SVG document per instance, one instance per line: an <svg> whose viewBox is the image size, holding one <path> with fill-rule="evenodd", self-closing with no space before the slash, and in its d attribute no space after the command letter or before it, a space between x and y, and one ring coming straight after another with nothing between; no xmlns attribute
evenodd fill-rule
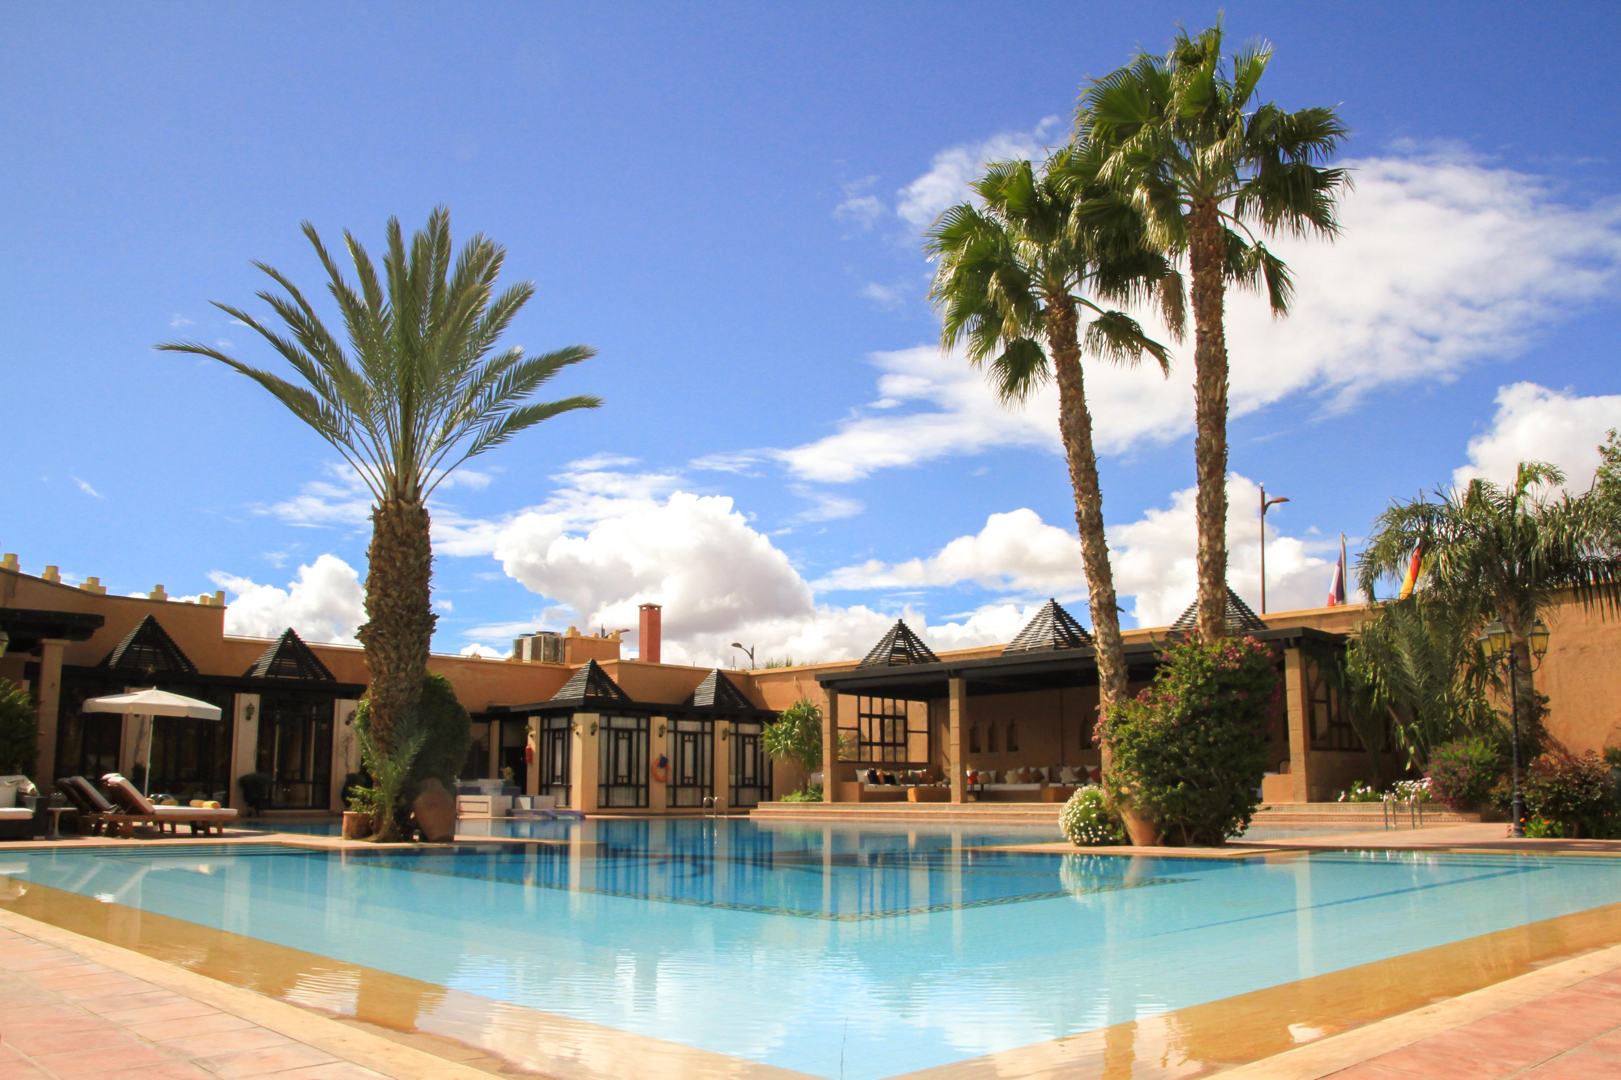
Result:
<svg viewBox="0 0 1621 1080"><path fill-rule="evenodd" d="M1143 217L1151 243L1188 257L1198 466L1200 630L1225 633L1227 610L1227 283L1266 287L1289 311L1289 267L1255 235L1334 236L1345 172L1323 168L1344 141L1332 108L1256 104L1268 44L1222 57L1222 29L1180 31L1164 57L1140 53L1091 83L1076 138L1102 155L1101 176Z"/></svg>

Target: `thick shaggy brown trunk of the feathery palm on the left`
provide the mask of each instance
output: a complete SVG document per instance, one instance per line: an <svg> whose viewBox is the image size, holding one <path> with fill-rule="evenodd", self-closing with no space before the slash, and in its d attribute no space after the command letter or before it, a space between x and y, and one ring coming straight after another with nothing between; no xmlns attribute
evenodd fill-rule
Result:
<svg viewBox="0 0 1621 1080"><path fill-rule="evenodd" d="M391 755L397 733L421 703L428 648L438 617L430 602L433 549L428 508L415 499L387 499L371 510L366 551L366 625L355 636L366 649L371 677L370 725L379 753ZM384 821L378 839L397 839Z"/></svg>

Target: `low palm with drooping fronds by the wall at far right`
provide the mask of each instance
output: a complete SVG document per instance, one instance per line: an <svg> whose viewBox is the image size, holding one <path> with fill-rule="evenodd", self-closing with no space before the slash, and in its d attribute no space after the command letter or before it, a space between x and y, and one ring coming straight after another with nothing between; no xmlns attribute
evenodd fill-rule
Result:
<svg viewBox="0 0 1621 1080"><path fill-rule="evenodd" d="M1514 483L1472 479L1436 500L1394 504L1375 520L1357 560L1373 596L1379 576L1401 576L1414 551L1433 601L1469 619L1465 640L1501 619L1514 653L1519 730L1533 730L1530 631L1566 593L1602 612L1621 609L1621 555L1608 549L1608 521L1597 495L1553 494L1564 473L1522 461Z"/></svg>

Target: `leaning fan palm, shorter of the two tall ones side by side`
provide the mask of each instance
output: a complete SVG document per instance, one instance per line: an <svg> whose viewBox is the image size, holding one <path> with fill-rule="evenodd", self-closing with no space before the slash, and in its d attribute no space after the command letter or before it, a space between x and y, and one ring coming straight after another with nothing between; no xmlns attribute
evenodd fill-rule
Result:
<svg viewBox="0 0 1621 1080"><path fill-rule="evenodd" d="M984 206L945 210L927 232L926 248L940 261L930 298L943 316L942 345L963 342L974 366L989 361L987 376L1005 405L1021 405L1049 379L1057 382L1099 696L1109 706L1125 698L1127 667L1081 355L1123 364L1146 355L1165 371L1170 355L1135 319L1104 309L1088 293L1110 301L1159 293L1174 327L1180 327L1182 293L1170 264L1135 243L1135 217L1118 207L1110 212L1109 196L1089 191L1086 180L1084 160L1068 149L1039 173L1023 160L992 164L973 185ZM1094 196L1102 202L1091 204Z"/></svg>

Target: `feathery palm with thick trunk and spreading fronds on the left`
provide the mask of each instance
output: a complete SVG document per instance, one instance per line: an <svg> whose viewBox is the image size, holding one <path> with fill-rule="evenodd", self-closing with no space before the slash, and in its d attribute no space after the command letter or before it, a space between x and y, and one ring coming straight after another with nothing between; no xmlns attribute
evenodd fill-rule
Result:
<svg viewBox="0 0 1621 1080"><path fill-rule="evenodd" d="M282 272L263 262L282 293L261 291L282 327L272 329L240 308L214 306L256 330L306 385L251 368L199 342L160 350L211 356L248 376L332 444L374 499L366 551L366 623L357 636L371 675L371 735L384 755L399 750L415 724L436 617L430 604L433 552L428 495L459 465L525 427L595 397L525 403L569 364L595 351L585 345L525 356L496 350L519 309L535 295L520 282L496 295L506 249L483 235L454 257L451 214L438 207L407 248L397 219L387 223L381 275L347 230L355 267L350 285L303 223L327 275L327 291L344 316L345 351L314 308ZM391 829L392 823L386 823Z"/></svg>

